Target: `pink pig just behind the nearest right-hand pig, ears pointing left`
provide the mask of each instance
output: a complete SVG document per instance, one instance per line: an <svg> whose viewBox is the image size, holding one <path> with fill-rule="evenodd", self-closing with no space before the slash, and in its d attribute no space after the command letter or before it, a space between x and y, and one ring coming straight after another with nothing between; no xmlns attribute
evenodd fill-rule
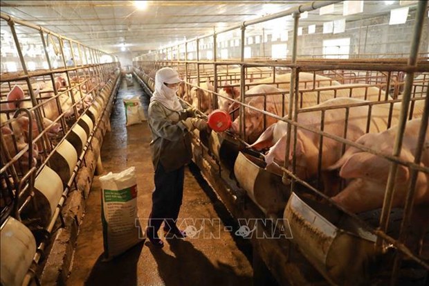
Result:
<svg viewBox="0 0 429 286"><path fill-rule="evenodd" d="M316 107L329 107L335 105L350 105L361 103L365 100L354 98L334 98L322 102ZM320 111L304 112L298 116L298 123L307 127L320 130ZM349 120L347 125L347 139L355 141L365 134L367 127L367 106L352 107L349 110ZM369 132L381 132L387 129L387 119L389 109L383 107L372 107L371 124ZM396 117L392 118L392 124L396 124ZM325 112L324 131L336 136L343 136L345 128L345 109L330 109ZM253 148L259 150L268 148L270 150L265 156L265 161L269 165L273 162L283 165L286 151L286 123L276 123L275 127L268 128L264 134L253 144ZM292 129L293 130L293 129ZM280 140L277 141L277 139ZM293 134L291 134L293 138ZM274 144L274 145L273 145ZM296 173L300 179L312 179L318 173L318 154L319 154L320 136L316 133L298 128L297 145L293 152L293 145L289 151L289 160L295 156ZM336 181L332 177L332 172L328 170L341 157L342 143L325 137L323 139L322 150L322 180L325 184L325 193L336 192ZM332 184L334 182L334 184ZM331 194L332 195L332 194Z"/></svg>

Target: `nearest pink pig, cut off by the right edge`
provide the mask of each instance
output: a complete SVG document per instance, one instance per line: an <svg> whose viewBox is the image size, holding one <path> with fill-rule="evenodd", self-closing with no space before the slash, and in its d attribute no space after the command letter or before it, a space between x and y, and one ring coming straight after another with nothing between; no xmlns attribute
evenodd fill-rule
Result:
<svg viewBox="0 0 429 286"><path fill-rule="evenodd" d="M414 161L414 151L417 146L417 136L421 119L408 121L403 135L403 145L400 158ZM365 145L383 154L392 154L397 126L377 134L365 134L356 143ZM421 157L421 165L429 167L429 130L426 130L425 146ZM349 179L349 184L338 195L333 197L347 210L353 213L381 208L385 195L390 161L358 148L349 148L343 157L329 169L340 169L340 176ZM414 194L415 204L429 204L429 173L419 172ZM410 184L410 170L398 166L394 183L393 207L403 206L405 195Z"/></svg>

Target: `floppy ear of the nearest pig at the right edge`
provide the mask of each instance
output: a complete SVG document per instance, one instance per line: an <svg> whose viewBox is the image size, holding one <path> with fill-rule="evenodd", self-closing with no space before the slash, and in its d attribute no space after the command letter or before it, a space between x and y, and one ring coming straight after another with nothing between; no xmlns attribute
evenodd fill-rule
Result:
<svg viewBox="0 0 429 286"><path fill-rule="evenodd" d="M340 170L340 176L347 178L370 178L377 181L387 181L390 170L390 161L377 157L367 152L353 154L344 163ZM399 165L396 180L407 181L409 178L408 168Z"/></svg>

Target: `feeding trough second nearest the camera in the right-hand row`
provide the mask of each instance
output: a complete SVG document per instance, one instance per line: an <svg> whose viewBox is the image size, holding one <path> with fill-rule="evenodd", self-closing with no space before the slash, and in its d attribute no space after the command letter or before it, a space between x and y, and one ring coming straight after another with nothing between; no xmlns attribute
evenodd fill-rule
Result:
<svg viewBox="0 0 429 286"><path fill-rule="evenodd" d="M234 165L235 178L265 214L282 213L289 197L289 188L282 184L280 174L266 170L265 166L262 159L239 152Z"/></svg>

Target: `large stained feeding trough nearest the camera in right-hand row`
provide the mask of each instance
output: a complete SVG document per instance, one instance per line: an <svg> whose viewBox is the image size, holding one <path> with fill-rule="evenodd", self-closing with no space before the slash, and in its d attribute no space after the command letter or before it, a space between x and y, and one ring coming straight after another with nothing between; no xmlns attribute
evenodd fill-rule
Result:
<svg viewBox="0 0 429 286"><path fill-rule="evenodd" d="M343 211L292 193L284 219L292 242L331 283L362 285L375 271L376 235Z"/></svg>

